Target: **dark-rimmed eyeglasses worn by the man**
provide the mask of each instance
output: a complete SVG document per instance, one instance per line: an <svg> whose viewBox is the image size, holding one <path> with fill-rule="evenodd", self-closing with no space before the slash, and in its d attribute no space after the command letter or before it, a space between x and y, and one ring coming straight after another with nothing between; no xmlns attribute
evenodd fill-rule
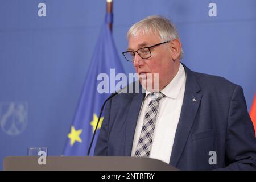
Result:
<svg viewBox="0 0 256 182"><path fill-rule="evenodd" d="M170 42L171 40L168 40L166 42L162 42L162 43L159 43L159 44L155 44L153 46L150 46L150 47L143 47L143 48L139 48L137 51L125 51L125 52L122 52L123 56L125 56L125 59L127 61L131 61L133 62L134 61L134 57L135 57L135 53L137 52L139 57L141 57L142 59L148 59L152 56L151 54L151 51L150 49L152 47L156 47L156 46L159 46L161 44L165 44L165 43L168 43Z"/></svg>

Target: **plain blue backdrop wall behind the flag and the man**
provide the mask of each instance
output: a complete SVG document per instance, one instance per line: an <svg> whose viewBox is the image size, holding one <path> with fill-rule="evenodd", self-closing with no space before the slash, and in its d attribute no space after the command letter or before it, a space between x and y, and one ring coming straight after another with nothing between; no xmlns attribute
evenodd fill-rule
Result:
<svg viewBox="0 0 256 182"><path fill-rule="evenodd" d="M40 17L42 2L46 16ZM63 153L105 9L105 0L0 0L0 169L5 156L27 155L27 147ZM241 85L250 109L256 91L255 0L118 0L113 13L126 73L134 73L121 55L127 30L148 15L163 15L177 26L183 63Z"/></svg>

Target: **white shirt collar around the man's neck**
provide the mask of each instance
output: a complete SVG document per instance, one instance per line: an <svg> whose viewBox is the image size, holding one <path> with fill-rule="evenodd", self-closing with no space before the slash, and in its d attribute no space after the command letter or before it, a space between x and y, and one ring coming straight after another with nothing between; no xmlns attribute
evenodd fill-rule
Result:
<svg viewBox="0 0 256 182"><path fill-rule="evenodd" d="M180 63L179 71L177 72L175 77L170 81L170 83L168 85L166 85L166 87L164 87L163 90L161 90L161 92L166 97L170 97L170 98L176 99L178 94L179 94L179 92L180 92L180 89L181 89L184 81L185 81L185 69L184 69L183 65ZM145 98L150 93L151 92L148 92L146 90Z"/></svg>

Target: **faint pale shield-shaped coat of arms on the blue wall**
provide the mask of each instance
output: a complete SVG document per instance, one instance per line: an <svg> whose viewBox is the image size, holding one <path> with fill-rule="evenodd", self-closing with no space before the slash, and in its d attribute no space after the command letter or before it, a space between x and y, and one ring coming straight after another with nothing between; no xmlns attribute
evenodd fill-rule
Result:
<svg viewBox="0 0 256 182"><path fill-rule="evenodd" d="M27 115L27 102L0 102L0 125L7 135L23 133L27 128Z"/></svg>

